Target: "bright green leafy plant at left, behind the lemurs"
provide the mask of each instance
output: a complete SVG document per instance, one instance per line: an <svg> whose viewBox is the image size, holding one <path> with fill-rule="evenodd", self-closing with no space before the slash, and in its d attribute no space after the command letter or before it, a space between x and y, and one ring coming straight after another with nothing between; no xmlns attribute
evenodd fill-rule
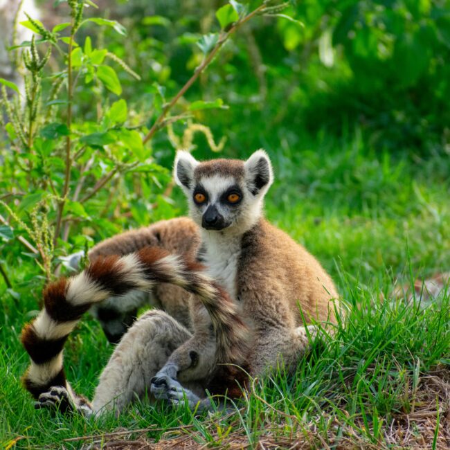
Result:
<svg viewBox="0 0 450 450"><path fill-rule="evenodd" d="M0 201L8 218L2 216L1 221L7 225L12 220L17 233L26 233L26 242L35 249L31 256L47 280L59 263L58 256L84 247L92 233L120 230L124 209L140 224L148 222L147 215L157 206L172 208L167 198L170 175L152 146L162 129L174 145L192 147L193 134L201 132L213 150L222 150L224 138L216 145L210 129L193 116L201 110L226 108L222 99L183 100L177 114L171 111L235 31L253 17L279 8L269 1L250 12L236 1L219 8L220 29L199 37L203 56L190 78L168 99L165 88L153 80L152 105L144 116L121 98L121 73L136 82L141 76L85 30L92 33L92 26L107 27L124 37L125 27L115 20L85 17L87 6L96 7L90 0L67 3L70 21L52 30L32 17L21 22L35 33L31 42L12 48L24 49L24 93L16 84L0 80L8 142L1 150L4 177L0 181L0 189L6 191ZM90 111L89 119L83 111ZM185 124L181 139L172 127L179 122ZM117 219L116 224L111 219ZM69 240L74 224L78 237Z"/></svg>

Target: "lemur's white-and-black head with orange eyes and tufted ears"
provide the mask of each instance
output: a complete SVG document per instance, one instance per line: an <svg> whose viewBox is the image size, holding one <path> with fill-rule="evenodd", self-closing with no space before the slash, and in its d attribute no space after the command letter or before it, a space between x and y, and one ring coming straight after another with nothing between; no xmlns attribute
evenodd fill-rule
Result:
<svg viewBox="0 0 450 450"><path fill-rule="evenodd" d="M215 159L199 163L179 151L174 177L188 197L190 217L212 231L251 228L261 215L262 201L273 181L269 156L263 150L247 161Z"/></svg>

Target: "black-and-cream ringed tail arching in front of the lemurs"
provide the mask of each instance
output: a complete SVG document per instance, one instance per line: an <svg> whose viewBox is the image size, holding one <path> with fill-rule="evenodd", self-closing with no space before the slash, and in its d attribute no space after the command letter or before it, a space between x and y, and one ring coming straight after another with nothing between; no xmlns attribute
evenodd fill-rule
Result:
<svg viewBox="0 0 450 450"><path fill-rule="evenodd" d="M132 290L151 290L165 282L199 296L210 314L217 339L217 363L242 363L246 327L232 301L202 271L203 267L158 247L123 257L100 257L71 278L60 278L44 290L44 309L25 325L21 342L31 364L22 381L37 399L52 386L72 393L64 375L62 352L69 334L95 303ZM242 348L242 350L240 350Z"/></svg>

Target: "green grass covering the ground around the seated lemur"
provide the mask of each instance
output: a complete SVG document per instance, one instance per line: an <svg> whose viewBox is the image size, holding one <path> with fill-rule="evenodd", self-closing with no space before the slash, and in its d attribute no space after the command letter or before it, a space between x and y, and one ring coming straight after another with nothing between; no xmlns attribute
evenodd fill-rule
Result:
<svg viewBox="0 0 450 450"><path fill-rule="evenodd" d="M323 262L348 309L334 337L315 343L294 376L280 370L256 380L234 413L194 417L183 408L138 402L118 418L52 416L35 411L20 386L28 357L19 332L38 309L42 280L30 285L35 267L12 252L3 259L21 297L15 300L0 284L0 446L19 439L17 448L79 448L90 440L64 440L150 427L148 440L182 438L218 448L246 442L289 448L296 440L306 448L338 442L383 448L401 444L405 434L395 433L408 423L411 446L444 447L450 399L429 382L450 386L450 295L424 309L419 299L381 301L380 294L388 298L397 277L408 281L450 269L449 157L394 160L366 150L358 136L318 136L295 148L268 143L267 150L277 176L267 216ZM179 194L175 199L183 201ZM92 396L112 350L87 317L66 345L75 390ZM429 414L426 426L414 420L419 410ZM170 431L181 425L183 431Z"/></svg>

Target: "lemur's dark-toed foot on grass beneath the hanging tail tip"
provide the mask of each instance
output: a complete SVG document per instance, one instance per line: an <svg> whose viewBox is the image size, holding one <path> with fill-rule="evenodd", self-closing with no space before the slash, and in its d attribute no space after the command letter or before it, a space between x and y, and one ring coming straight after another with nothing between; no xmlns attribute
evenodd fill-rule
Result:
<svg viewBox="0 0 450 450"><path fill-rule="evenodd" d="M39 395L35 409L47 408L61 413L77 412L85 416L93 413L89 402L83 397L73 397L64 386L52 386Z"/></svg>

